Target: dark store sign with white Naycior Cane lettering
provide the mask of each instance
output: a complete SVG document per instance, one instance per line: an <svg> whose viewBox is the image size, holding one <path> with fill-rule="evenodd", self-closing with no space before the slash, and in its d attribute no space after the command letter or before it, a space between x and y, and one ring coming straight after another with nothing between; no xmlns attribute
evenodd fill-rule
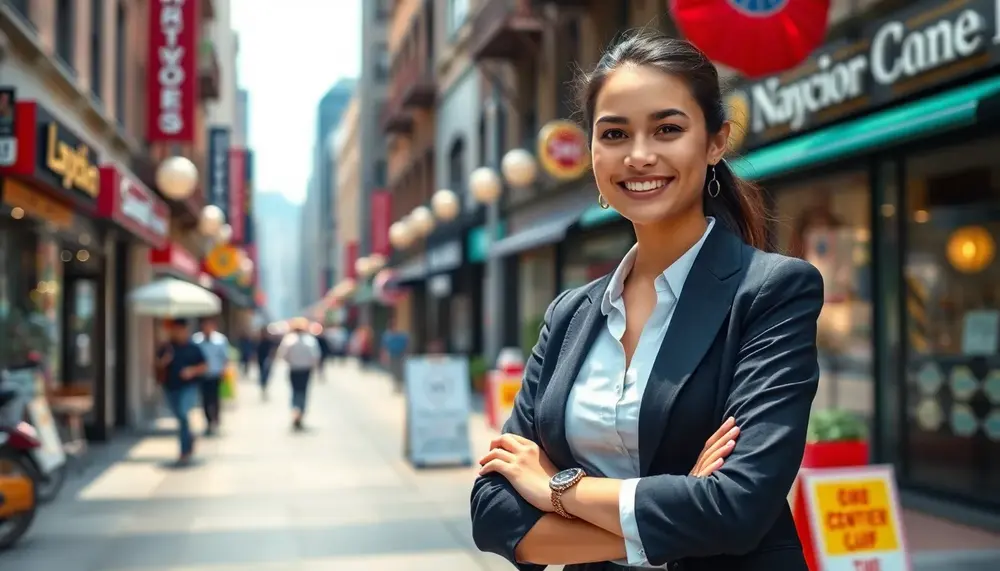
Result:
<svg viewBox="0 0 1000 571"><path fill-rule="evenodd" d="M1000 0L921 2L737 89L728 102L745 132L737 142L759 146L982 72L1000 63L998 44Z"/></svg>

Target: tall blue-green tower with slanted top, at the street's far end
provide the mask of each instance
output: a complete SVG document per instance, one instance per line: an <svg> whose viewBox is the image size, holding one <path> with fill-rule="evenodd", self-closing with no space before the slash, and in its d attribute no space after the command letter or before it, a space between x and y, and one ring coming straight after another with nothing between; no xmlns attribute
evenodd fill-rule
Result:
<svg viewBox="0 0 1000 571"><path fill-rule="evenodd" d="M316 108L316 140L313 167L302 211L303 264L302 301L309 304L333 287L336 259L337 173L334 133L350 103L357 80L341 79L330 88Z"/></svg>

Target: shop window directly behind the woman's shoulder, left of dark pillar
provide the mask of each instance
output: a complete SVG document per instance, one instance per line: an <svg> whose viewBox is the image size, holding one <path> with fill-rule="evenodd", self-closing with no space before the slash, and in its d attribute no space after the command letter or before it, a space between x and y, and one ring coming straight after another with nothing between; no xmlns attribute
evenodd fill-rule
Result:
<svg viewBox="0 0 1000 571"><path fill-rule="evenodd" d="M820 384L814 408L874 417L871 191L867 171L773 190L779 250L823 275Z"/></svg>

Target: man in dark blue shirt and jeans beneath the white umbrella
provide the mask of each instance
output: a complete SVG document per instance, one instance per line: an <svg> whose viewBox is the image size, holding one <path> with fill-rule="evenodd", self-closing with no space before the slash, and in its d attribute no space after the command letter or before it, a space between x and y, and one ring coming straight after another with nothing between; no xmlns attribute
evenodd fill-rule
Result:
<svg viewBox="0 0 1000 571"><path fill-rule="evenodd" d="M205 374L208 365L201 349L191 342L187 323L180 320L166 322L169 340L156 354L157 377L171 413L177 418L180 439L178 465L187 464L194 452L194 435L188 413L198 401L198 378Z"/></svg>

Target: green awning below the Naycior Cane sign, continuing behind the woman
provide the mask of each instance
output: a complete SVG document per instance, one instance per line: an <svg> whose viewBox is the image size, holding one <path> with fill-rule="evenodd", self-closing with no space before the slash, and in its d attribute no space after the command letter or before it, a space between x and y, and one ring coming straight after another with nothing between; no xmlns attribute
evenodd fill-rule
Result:
<svg viewBox="0 0 1000 571"><path fill-rule="evenodd" d="M967 127L976 122L980 101L997 94L1000 77L992 77L775 143L731 164L743 178L760 180ZM580 226L591 228L618 217L614 210L595 204L580 217Z"/></svg>

